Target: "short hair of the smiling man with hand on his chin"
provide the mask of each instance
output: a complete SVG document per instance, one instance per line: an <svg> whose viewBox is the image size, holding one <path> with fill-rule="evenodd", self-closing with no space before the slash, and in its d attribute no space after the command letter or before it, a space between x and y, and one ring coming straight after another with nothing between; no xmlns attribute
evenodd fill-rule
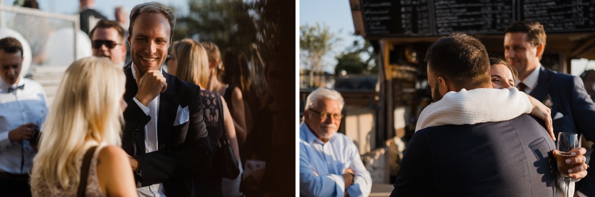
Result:
<svg viewBox="0 0 595 197"><path fill-rule="evenodd" d="M132 8L130 11L130 26L128 27L128 33L132 34L132 27L134 27L134 22L136 21L136 17L139 16L141 13L160 13L164 14L167 17L167 20L170 22L170 42L174 39L174 26L176 26L176 17L174 16L174 12L171 11L170 8L161 4L160 2L145 2L142 4L138 4Z"/></svg>

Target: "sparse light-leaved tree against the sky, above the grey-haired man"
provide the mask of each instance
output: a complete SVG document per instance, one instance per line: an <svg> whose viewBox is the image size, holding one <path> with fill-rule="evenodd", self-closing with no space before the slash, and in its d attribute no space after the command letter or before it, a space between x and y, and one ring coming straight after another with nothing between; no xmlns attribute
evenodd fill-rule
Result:
<svg viewBox="0 0 595 197"><path fill-rule="evenodd" d="M340 39L330 32L326 24L323 24L322 27L320 23L316 23L316 26L305 24L300 26L299 30L300 60L309 70L309 86L313 87L314 72L320 72L323 69L322 57Z"/></svg>

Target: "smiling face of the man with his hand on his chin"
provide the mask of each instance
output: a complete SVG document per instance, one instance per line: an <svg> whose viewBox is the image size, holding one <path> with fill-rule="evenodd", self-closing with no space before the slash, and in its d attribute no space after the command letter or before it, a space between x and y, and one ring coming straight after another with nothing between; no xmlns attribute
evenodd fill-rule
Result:
<svg viewBox="0 0 595 197"><path fill-rule="evenodd" d="M161 13L141 13L128 36L130 56L140 73L161 70L170 47L170 23Z"/></svg>

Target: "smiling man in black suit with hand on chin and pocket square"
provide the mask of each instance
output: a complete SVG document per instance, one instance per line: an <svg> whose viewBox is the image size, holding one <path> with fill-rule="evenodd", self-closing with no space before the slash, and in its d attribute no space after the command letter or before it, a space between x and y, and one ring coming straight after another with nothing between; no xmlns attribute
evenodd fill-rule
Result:
<svg viewBox="0 0 595 197"><path fill-rule="evenodd" d="M131 155L140 196L191 196L191 178L211 169L200 88L161 68L175 23L171 9L158 2L136 5L130 14L122 147Z"/></svg>

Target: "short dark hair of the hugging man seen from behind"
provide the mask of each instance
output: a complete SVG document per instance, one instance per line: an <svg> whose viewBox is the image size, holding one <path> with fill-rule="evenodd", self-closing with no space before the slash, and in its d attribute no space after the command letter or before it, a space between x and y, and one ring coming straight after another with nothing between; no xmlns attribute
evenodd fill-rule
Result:
<svg viewBox="0 0 595 197"><path fill-rule="evenodd" d="M428 69L452 82L455 88L472 89L490 83L490 60L480 40L452 33L434 42L425 56Z"/></svg>

